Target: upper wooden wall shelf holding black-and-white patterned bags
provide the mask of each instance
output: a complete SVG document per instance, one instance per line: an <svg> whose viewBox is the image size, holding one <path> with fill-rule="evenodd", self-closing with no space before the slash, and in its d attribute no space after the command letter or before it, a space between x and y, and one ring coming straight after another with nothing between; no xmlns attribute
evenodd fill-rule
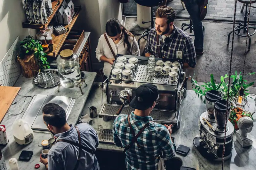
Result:
<svg viewBox="0 0 256 170"><path fill-rule="evenodd" d="M63 3L63 1L64 0L52 1L52 14L48 17L48 22L46 24L28 24L28 22L23 22L22 27L32 29L46 29L52 21L52 18L54 17L55 13L59 10L60 5Z"/></svg>

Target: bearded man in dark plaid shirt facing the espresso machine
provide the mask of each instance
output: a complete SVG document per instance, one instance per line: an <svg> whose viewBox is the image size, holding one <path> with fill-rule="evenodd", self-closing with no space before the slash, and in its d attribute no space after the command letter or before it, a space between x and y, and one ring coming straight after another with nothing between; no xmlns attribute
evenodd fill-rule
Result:
<svg viewBox="0 0 256 170"><path fill-rule="evenodd" d="M158 58L183 59L183 68L196 66L196 50L192 39L185 31L177 28L173 21L176 18L172 7L161 6L156 10L155 28L148 35L145 56L155 55ZM157 38L159 46L157 46Z"/></svg>

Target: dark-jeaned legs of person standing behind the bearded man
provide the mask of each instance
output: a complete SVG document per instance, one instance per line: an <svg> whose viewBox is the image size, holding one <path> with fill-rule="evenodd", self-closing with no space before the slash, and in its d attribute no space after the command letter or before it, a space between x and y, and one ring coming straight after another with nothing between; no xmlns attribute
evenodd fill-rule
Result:
<svg viewBox="0 0 256 170"><path fill-rule="evenodd" d="M198 0L184 0L184 4L192 20L192 25L195 34L195 48L197 55L204 54L204 32L202 21L200 20L200 7L197 3Z"/></svg>

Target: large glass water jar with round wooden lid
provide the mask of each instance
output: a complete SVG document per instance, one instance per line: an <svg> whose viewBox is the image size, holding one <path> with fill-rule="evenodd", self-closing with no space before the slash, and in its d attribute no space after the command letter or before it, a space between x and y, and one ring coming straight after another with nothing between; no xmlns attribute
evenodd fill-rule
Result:
<svg viewBox="0 0 256 170"><path fill-rule="evenodd" d="M57 57L60 85L76 87L81 82L79 57L70 49L64 49Z"/></svg>

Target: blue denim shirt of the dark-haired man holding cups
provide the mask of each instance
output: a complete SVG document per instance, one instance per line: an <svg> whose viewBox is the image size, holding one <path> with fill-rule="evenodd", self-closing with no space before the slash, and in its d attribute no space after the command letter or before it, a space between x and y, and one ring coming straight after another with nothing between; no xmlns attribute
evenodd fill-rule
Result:
<svg viewBox="0 0 256 170"><path fill-rule="evenodd" d="M95 152L99 145L99 138L96 131L87 123L76 125L81 135L81 144L89 150ZM65 139L78 143L76 128L71 128L63 133L56 134L57 141ZM58 142L51 148L48 154L49 170L74 170L78 158L78 147L66 142ZM77 170L100 170L98 160L94 153L86 152L82 149L81 159Z"/></svg>

